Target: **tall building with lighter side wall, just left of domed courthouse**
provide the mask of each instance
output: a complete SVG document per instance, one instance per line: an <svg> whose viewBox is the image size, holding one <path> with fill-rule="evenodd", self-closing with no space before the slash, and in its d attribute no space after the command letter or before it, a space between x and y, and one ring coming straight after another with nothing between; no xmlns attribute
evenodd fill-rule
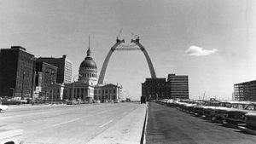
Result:
<svg viewBox="0 0 256 144"><path fill-rule="evenodd" d="M58 67L56 83L57 84L70 84L72 83L72 66L73 62L67 59L66 55L61 58L53 57L39 57L38 61L44 61L50 65Z"/></svg>

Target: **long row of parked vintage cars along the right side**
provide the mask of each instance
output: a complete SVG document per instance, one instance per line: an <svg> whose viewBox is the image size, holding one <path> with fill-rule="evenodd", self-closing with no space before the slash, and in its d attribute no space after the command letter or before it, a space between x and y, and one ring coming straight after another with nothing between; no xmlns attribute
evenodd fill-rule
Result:
<svg viewBox="0 0 256 144"><path fill-rule="evenodd" d="M256 135L256 102L253 101L195 101L164 99L158 101L195 117L224 124Z"/></svg>

